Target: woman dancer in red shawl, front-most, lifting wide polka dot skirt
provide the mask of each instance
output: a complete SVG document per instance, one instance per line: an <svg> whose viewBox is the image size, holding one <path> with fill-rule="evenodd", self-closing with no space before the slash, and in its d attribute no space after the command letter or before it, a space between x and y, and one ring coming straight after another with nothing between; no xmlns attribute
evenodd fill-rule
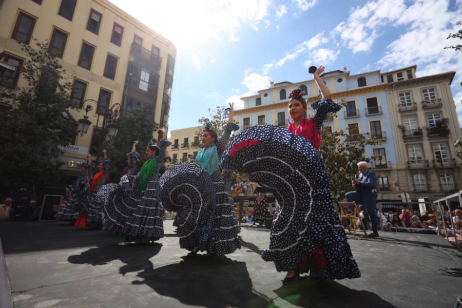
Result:
<svg viewBox="0 0 462 308"><path fill-rule="evenodd" d="M318 151L326 114L340 109L319 78L323 70L321 66L314 73L323 96L313 103L314 120L305 118L300 91L292 91L289 109L294 121L288 130L269 125L248 128L233 139L222 159L224 168L248 172L278 201L269 249L262 258L273 261L278 272L287 272L284 285L307 272L310 279L360 277L332 206L331 183Z"/></svg>

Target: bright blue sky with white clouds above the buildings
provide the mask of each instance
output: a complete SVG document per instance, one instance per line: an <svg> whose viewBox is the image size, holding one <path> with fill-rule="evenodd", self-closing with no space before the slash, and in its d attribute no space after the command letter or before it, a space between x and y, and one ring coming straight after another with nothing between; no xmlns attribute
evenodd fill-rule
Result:
<svg viewBox="0 0 462 308"><path fill-rule="evenodd" d="M312 79L307 68L351 74L417 65L417 77L456 71L462 123L462 53L444 49L462 0L109 0L177 48L169 131L269 82Z"/></svg>

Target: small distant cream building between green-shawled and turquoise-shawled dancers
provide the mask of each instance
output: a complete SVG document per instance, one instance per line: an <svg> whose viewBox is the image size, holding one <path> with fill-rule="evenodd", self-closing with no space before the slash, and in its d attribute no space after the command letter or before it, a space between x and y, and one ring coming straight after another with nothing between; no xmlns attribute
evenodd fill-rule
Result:
<svg viewBox="0 0 462 308"><path fill-rule="evenodd" d="M170 131L171 146L167 148L167 155L170 156L170 165L191 162L201 150L201 140L197 131L202 126L194 126ZM192 157L192 159L191 159Z"/></svg>

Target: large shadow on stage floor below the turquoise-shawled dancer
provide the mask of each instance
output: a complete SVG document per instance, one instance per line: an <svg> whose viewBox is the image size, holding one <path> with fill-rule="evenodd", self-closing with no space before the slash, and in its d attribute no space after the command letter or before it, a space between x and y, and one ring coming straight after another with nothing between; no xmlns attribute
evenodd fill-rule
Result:
<svg viewBox="0 0 462 308"><path fill-rule="evenodd" d="M225 256L197 255L180 263L138 274L156 293L178 299L186 305L205 307L261 307L271 299L253 290L245 262Z"/></svg>

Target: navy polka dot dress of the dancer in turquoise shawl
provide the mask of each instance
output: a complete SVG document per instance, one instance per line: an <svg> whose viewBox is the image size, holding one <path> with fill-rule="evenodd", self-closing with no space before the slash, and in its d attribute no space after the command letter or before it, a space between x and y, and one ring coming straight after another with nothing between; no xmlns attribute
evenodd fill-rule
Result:
<svg viewBox="0 0 462 308"><path fill-rule="evenodd" d="M220 159L224 147L229 143L230 133L237 129L239 129L239 126L234 123L227 124L223 127L222 137L216 143L218 157ZM206 184L205 182L197 182L199 178L203 178L204 181L207 179ZM164 182L167 183L167 179L169 183L168 186L162 184ZM206 251L209 256L230 254L241 247L240 238L238 236L240 227L237 224L237 219L234 214L233 197L230 194L230 182L229 180L225 182L221 175L220 168L209 176L205 170L196 164L179 164L167 169L165 174L161 177L160 183L159 193L161 195L159 195L159 199L162 200L161 203L165 203L164 207L166 209L177 211L179 215L177 224L180 235L180 247L191 249L194 246L198 246L201 251ZM204 199L211 203L211 208L208 211L201 209L205 207L203 203L204 200L185 197L188 196L185 191L198 194L197 191L199 188L198 190L194 189L194 191L192 191L192 188L189 188L192 187L191 185L194 187L200 186L201 189L204 189L209 195L207 199ZM172 203L171 200L178 201ZM169 203L179 205L176 207L169 207ZM207 218L198 216L201 219L198 219L197 223L195 223L194 220L191 221L185 218L190 217L190 213L198 212L199 209L201 209L203 215L208 215ZM187 221L187 223L184 221ZM194 232L191 233L191 230L194 230ZM199 234L197 234L198 230L201 230ZM185 237L185 235L189 236Z"/></svg>

